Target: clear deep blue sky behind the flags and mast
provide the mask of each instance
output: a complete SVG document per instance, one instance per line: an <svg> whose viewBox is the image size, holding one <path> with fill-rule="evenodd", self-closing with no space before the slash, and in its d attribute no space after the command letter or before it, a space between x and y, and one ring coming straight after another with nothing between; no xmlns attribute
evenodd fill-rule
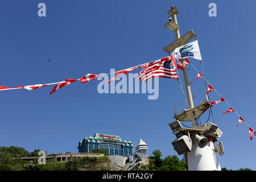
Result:
<svg viewBox="0 0 256 182"><path fill-rule="evenodd" d="M46 3L46 17L38 16L40 2ZM217 17L208 16L210 2L217 5ZM205 77L256 129L253 0L1 1L0 85L47 84L167 56L163 47L175 34L164 24L172 5L180 11L180 34L192 29L197 35ZM200 61L189 60L201 71ZM191 90L196 106L205 99L204 81L195 80L193 68L188 76L194 81ZM103 133L120 135L134 145L142 138L148 155L155 149L163 157L177 155L168 123L174 121L175 103L179 113L186 106L176 80L159 79L157 100L148 100L148 94L100 94L99 82L75 82L52 95L53 85L1 91L0 146L40 148L48 154L77 152L82 138ZM220 97L211 92L210 99ZM218 155L221 167L256 170L256 137L250 141L249 127L245 123L237 127L237 115L223 115L226 109L225 103L213 106L214 121L224 132L225 154ZM207 117L208 112L202 123Z"/></svg>

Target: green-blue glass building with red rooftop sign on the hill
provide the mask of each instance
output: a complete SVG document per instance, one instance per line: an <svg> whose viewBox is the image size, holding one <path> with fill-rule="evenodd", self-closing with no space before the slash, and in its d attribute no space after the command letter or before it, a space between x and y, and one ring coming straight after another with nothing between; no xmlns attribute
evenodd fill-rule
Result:
<svg viewBox="0 0 256 182"><path fill-rule="evenodd" d="M122 140L115 135L94 134L94 137L85 137L77 147L79 152L90 152L94 148L106 150L109 155L133 155L133 142Z"/></svg>

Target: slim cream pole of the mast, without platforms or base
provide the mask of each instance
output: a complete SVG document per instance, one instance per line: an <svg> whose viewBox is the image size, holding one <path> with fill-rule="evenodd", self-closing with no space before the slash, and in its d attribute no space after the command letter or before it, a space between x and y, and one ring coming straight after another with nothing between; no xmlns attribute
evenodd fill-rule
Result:
<svg viewBox="0 0 256 182"><path fill-rule="evenodd" d="M174 22L177 24L176 14L173 14L172 18L174 19ZM175 40L177 40L179 38L180 38L180 31L178 29L177 31L175 31ZM193 104L190 85L189 85L189 82L188 82L188 73L187 73L187 68L186 68L184 59L181 59L181 63L182 63L183 68L184 68L183 69L183 77L184 77L185 88L186 88L187 97L188 97L188 106L189 106L189 109L192 109L192 108L194 108L194 104Z"/></svg>

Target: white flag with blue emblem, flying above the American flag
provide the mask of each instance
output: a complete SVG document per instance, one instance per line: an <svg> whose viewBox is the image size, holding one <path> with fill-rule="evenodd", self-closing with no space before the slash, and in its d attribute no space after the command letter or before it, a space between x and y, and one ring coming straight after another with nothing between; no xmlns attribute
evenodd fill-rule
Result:
<svg viewBox="0 0 256 182"><path fill-rule="evenodd" d="M172 56L177 60L185 57L202 60L197 40L187 43L184 46L177 47L174 52L172 52Z"/></svg>

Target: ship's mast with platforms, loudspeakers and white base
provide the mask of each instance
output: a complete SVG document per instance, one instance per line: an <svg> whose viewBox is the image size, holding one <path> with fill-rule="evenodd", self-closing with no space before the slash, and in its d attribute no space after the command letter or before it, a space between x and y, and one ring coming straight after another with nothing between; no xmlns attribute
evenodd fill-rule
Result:
<svg viewBox="0 0 256 182"><path fill-rule="evenodd" d="M166 24L166 27L171 31L175 31L174 43L164 47L164 51L168 53L174 51L176 47L186 44L190 39L195 37L193 31L190 31L180 39L179 26L176 18L176 14L178 13L179 11L177 11L174 6L172 6L171 10L168 11L168 14L172 16L174 21L169 18L170 21ZM216 150L213 140L214 142L217 141L221 137L222 132L217 128L217 125L214 125L213 123L208 122L204 126L197 125L196 119L212 105L209 104L207 99L206 101L201 101L199 106L194 107L191 88L189 86L192 82L189 83L184 59L181 59L181 63L184 68L183 76L189 109L183 110L183 113L179 115L175 114L174 118L177 120L169 124L173 133L177 137L177 139L172 142L172 145L179 155L185 154L189 171L220 171L221 168L216 151L220 152L222 155L224 153L224 149L221 143L218 144L218 146L221 146L221 149ZM180 121L192 121L191 129L183 128Z"/></svg>

